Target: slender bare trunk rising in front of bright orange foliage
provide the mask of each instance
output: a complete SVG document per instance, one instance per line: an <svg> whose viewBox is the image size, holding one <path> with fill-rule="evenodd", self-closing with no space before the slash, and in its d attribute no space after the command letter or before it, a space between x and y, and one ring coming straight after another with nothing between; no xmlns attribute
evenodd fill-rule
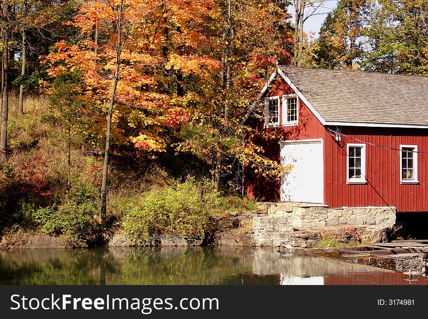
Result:
<svg viewBox="0 0 428 319"><path fill-rule="evenodd" d="M116 99L116 88L117 83L119 82L119 67L120 67L120 56L122 53L122 27L123 27L123 0L121 1L119 8L119 22L117 26L117 50L116 50L116 70L112 81L111 95L110 95L110 105L108 107L108 116L107 116L107 129L106 129L106 150L104 152L104 167L103 167L103 182L101 185L101 224L103 227L103 232L106 231L107 226L107 174L108 174L108 164L110 160L110 139L111 139L111 117L113 114L113 105Z"/></svg>

